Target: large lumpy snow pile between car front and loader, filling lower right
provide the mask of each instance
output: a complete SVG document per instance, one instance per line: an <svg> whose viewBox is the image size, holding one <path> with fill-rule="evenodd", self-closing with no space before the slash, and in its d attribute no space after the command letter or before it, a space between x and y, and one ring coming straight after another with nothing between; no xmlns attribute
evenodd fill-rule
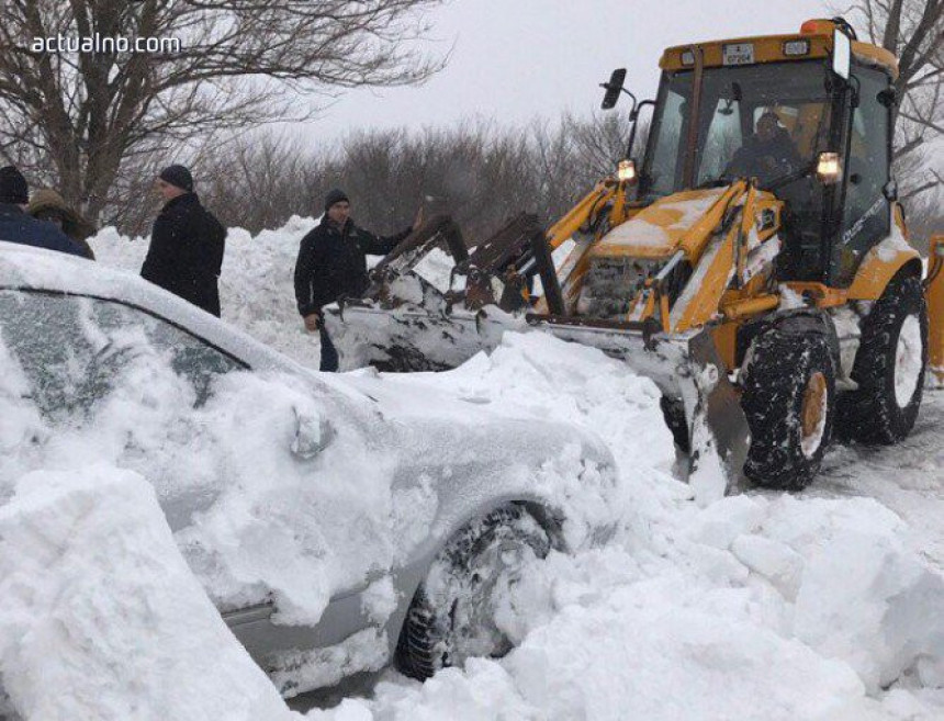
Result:
<svg viewBox="0 0 944 721"><path fill-rule="evenodd" d="M877 503L763 493L698 509L666 473L655 387L541 334L508 334L456 371L385 382L595 430L617 458L632 521L605 549L530 570L509 604L525 610L503 619L524 639L506 660L423 686L392 675L371 701L325 718L940 714L944 583Z"/></svg>

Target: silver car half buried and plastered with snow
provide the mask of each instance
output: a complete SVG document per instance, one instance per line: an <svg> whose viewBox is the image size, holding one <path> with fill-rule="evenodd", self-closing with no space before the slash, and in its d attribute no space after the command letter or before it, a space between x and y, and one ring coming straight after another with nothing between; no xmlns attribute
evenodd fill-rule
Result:
<svg viewBox="0 0 944 721"><path fill-rule="evenodd" d="M505 653L522 568L615 522L586 433L318 374L137 277L7 243L0 406L0 506L37 470L141 473L284 695Z"/></svg>

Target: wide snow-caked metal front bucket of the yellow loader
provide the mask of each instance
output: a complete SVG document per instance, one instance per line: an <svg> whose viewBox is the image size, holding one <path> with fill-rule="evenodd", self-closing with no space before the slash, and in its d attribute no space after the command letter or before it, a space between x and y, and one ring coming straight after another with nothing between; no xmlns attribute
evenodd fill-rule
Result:
<svg viewBox="0 0 944 721"><path fill-rule="evenodd" d="M690 444L688 482L698 503L708 504L743 485L751 443L748 419L710 330L670 336L645 324L541 315L526 319L494 306L436 314L418 306L357 304L328 306L325 317L341 370L448 370L497 348L506 330L542 330L599 348L681 402Z"/></svg>

